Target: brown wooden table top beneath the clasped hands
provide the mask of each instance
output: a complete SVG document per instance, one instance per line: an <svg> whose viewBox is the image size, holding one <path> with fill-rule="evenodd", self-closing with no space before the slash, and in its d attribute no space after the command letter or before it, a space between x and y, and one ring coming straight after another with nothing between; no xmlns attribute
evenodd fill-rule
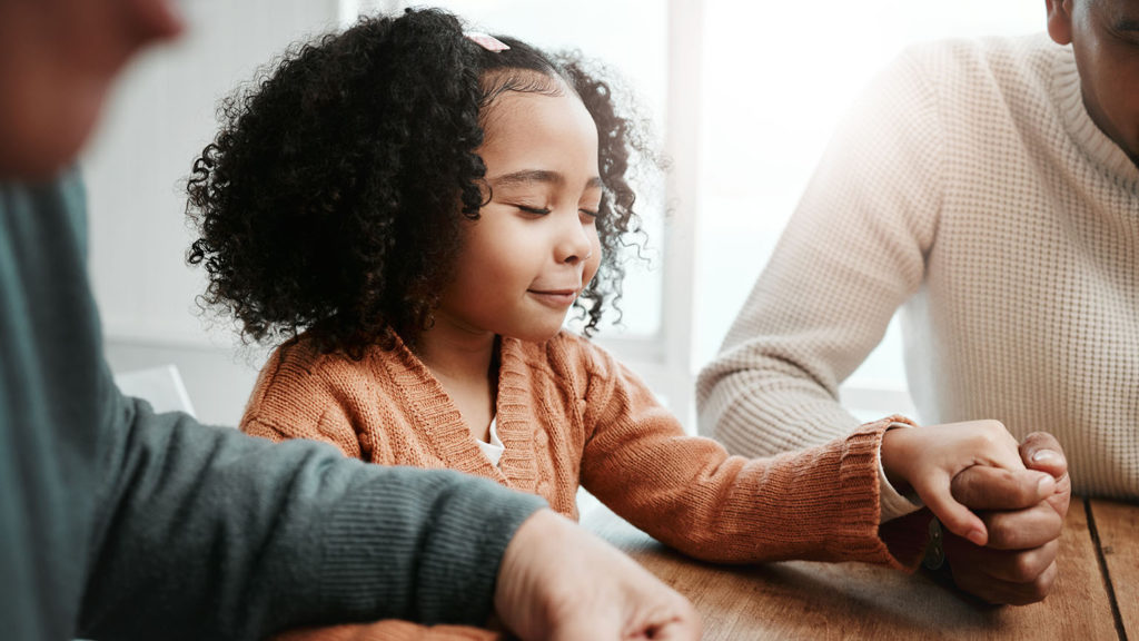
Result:
<svg viewBox="0 0 1139 641"><path fill-rule="evenodd" d="M604 506L582 522L688 597L705 639L1139 639L1139 505L1073 497L1051 594L976 602L934 578L862 563L703 563Z"/></svg>

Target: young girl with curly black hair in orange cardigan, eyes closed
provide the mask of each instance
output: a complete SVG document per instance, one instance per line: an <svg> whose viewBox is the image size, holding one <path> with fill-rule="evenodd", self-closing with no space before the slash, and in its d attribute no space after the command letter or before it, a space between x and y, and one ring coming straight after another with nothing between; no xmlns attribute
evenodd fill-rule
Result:
<svg viewBox="0 0 1139 641"><path fill-rule="evenodd" d="M913 568L927 519L879 530L890 484L983 544L949 487L973 464L1024 469L999 424L883 420L728 456L562 330L571 307L589 330L620 298L616 249L638 228L626 173L646 154L617 112L580 60L436 10L364 19L232 99L190 180L190 261L247 336L287 339L241 428L493 478L571 517L580 485L711 561Z"/></svg>

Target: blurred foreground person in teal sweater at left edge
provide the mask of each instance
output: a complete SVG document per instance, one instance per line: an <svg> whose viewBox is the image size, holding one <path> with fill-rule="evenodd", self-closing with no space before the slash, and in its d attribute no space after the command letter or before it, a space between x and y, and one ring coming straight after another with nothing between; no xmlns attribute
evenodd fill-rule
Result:
<svg viewBox="0 0 1139 641"><path fill-rule="evenodd" d="M261 639L483 623L524 639L696 639L691 606L541 500L273 445L115 388L65 169L163 0L0 0L0 631Z"/></svg>

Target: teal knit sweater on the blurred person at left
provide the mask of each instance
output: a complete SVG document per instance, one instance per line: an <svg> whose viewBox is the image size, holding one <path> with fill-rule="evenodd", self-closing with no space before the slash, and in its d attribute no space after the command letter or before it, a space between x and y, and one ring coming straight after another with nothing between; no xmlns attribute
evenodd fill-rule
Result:
<svg viewBox="0 0 1139 641"><path fill-rule="evenodd" d="M0 631L261 639L386 617L484 623L536 497L272 445L115 388L75 176L0 185Z"/></svg>

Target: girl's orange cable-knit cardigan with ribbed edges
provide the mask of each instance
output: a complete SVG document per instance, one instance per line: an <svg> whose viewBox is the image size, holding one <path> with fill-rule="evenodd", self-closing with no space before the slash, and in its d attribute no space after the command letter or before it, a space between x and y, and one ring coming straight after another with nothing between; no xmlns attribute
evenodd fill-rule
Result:
<svg viewBox="0 0 1139 641"><path fill-rule="evenodd" d="M241 429L327 441L372 463L491 478L571 518L580 484L654 538L707 561L863 561L912 570L920 560L923 528L884 528L888 547L878 529L882 435L904 419L748 460L686 435L634 374L574 334L544 343L502 338L500 363L497 429L506 449L498 468L402 343L354 362L320 354L303 334L286 342L262 370Z"/></svg>

